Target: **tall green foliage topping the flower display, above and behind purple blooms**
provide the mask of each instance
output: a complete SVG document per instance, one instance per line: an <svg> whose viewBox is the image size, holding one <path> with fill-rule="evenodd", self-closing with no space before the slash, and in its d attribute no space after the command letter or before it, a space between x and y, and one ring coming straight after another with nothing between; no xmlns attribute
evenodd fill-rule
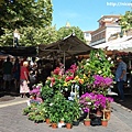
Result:
<svg viewBox="0 0 132 132"><path fill-rule="evenodd" d="M79 78L81 77L81 75L86 76L86 79L84 78L85 82L81 85L84 92L92 92L92 90L96 90L98 92L100 91L107 94L108 87L106 87L106 90L105 88L95 89L94 76L100 75L103 78L113 78L111 67L113 67L113 62L111 61L111 58L106 56L105 51L102 50L91 51L88 59L82 59L81 62L79 62L77 75L79 76Z"/></svg>

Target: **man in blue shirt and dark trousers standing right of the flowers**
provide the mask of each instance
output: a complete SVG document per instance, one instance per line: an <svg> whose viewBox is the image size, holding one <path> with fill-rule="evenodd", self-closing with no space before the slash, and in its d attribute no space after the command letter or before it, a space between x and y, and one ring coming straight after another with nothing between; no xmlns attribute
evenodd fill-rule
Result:
<svg viewBox="0 0 132 132"><path fill-rule="evenodd" d="M122 61L122 57L117 57L118 67L116 70L116 81L121 100L124 101L123 85L127 81L127 64Z"/></svg>

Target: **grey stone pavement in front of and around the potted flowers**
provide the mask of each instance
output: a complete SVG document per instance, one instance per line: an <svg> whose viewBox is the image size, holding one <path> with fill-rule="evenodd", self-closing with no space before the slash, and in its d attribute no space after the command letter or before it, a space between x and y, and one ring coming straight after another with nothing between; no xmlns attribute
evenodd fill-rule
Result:
<svg viewBox="0 0 132 132"><path fill-rule="evenodd" d="M28 98L15 97L10 101L0 101L0 132L132 132L132 110L113 102L111 119L107 128L85 127L82 122L72 130L52 129L46 123L34 123L22 116ZM132 102L132 100L131 100Z"/></svg>

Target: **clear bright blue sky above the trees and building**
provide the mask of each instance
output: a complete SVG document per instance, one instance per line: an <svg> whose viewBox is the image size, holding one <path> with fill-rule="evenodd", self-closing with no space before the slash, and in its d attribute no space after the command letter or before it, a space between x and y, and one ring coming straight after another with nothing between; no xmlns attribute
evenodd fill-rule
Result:
<svg viewBox="0 0 132 132"><path fill-rule="evenodd" d="M102 15L124 14L132 11L132 0L52 0L53 25L58 30L69 22L81 31L99 28Z"/></svg>

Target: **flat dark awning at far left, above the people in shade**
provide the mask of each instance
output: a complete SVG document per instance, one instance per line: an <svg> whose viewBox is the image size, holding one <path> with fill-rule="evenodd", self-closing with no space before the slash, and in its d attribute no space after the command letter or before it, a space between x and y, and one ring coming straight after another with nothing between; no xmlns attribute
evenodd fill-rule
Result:
<svg viewBox="0 0 132 132"><path fill-rule="evenodd" d="M0 46L0 52L3 54L10 54L12 56L36 56L37 50L35 46Z"/></svg>

